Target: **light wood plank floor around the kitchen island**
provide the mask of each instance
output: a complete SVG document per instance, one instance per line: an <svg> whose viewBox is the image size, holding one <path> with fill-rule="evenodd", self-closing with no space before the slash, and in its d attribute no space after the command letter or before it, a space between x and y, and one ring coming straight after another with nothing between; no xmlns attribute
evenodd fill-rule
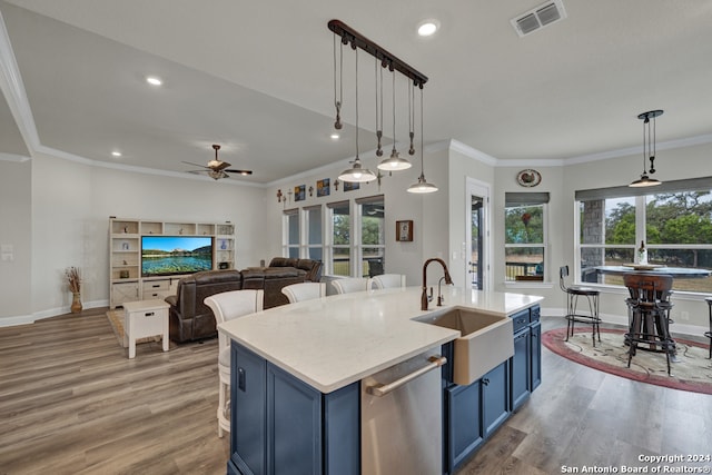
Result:
<svg viewBox="0 0 712 475"><path fill-rule="evenodd" d="M543 318L544 329L561 324ZM128 359L105 309L0 328L0 474L224 474L216 359L216 339L168 353L142 344ZM712 396L611 376L545 348L543 377L457 475L712 453Z"/></svg>

